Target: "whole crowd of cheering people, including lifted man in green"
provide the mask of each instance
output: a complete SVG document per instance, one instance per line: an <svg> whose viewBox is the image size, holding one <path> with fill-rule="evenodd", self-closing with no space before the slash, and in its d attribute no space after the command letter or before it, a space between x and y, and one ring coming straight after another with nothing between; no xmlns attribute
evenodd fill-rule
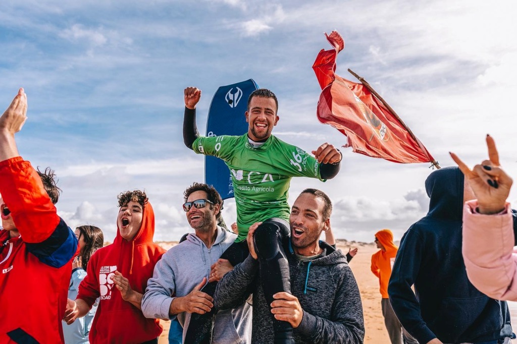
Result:
<svg viewBox="0 0 517 344"><path fill-rule="evenodd" d="M287 204L292 177L335 177L341 152L324 143L311 155L273 136L278 100L270 90L251 93L241 136L200 136L201 90L184 96L185 145L229 167L237 222L227 230L217 190L194 182L183 204L193 232L165 252L153 242L153 207L139 190L118 195L110 245L102 247L100 228L66 225L54 206L53 170L35 170L18 152L14 134L27 111L19 90L0 117L0 343L157 343L160 319L179 323L174 340L186 344L363 343L348 265L357 249L336 249L332 201L305 189ZM458 167L431 173L429 212L400 247L390 230L375 234L371 270L393 344L515 337L504 301L517 300L512 180L493 138L486 142L489 159L472 170L451 153Z"/></svg>

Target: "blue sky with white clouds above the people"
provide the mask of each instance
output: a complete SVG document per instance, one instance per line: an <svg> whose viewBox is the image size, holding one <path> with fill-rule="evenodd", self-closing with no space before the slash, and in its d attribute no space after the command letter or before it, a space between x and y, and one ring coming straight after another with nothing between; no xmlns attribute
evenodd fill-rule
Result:
<svg viewBox="0 0 517 344"><path fill-rule="evenodd" d="M64 190L58 211L70 226L98 225L113 239L116 195L145 189L155 239L177 240L189 231L182 193L204 179L203 158L181 137L183 89L203 90L202 133L216 89L252 78L279 98L278 137L308 151L341 146L345 137L316 119L321 90L311 69L333 29L345 39L337 73L364 76L440 165L452 165L448 151L479 163L490 133L517 176L514 15L509 2L466 0L8 0L0 3L0 105L25 88L19 150L56 170ZM305 187L327 192L338 238L372 241L390 228L400 239L427 212L427 164L350 149L343 157L338 177L295 179L290 193L292 203ZM234 221L233 201L223 215Z"/></svg>

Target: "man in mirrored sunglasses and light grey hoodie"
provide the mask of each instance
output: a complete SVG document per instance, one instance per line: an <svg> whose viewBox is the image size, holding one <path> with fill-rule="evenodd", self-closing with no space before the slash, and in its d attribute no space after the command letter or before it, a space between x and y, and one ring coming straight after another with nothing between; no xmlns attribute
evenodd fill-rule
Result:
<svg viewBox="0 0 517 344"><path fill-rule="evenodd" d="M194 183L184 193L183 210L195 233L172 247L156 264L142 301L147 318L175 319L184 327L184 340L192 314L205 314L214 307L212 297L200 291L233 269L220 259L237 237L217 225L222 199L213 186ZM235 309L215 314L212 344L250 343L251 307L241 303ZM187 341L185 341L187 342Z"/></svg>

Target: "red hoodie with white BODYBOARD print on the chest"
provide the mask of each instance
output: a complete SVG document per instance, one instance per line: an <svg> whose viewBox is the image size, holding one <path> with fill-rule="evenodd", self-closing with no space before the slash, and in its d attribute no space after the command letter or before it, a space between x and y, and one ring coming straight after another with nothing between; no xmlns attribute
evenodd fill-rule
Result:
<svg viewBox="0 0 517 344"><path fill-rule="evenodd" d="M142 343L162 332L158 319L147 319L142 311L124 301L111 275L119 271L129 279L131 288L144 293L147 280L165 250L153 243L155 214L147 202L140 230L131 241L117 236L113 244L99 248L88 262L87 275L79 285L77 299L90 307L100 297L99 307L90 330L90 343Z"/></svg>

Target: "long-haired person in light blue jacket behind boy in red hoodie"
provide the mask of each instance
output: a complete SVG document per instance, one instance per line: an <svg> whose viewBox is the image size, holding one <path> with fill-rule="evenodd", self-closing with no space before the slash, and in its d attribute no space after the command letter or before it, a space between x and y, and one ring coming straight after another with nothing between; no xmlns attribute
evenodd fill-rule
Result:
<svg viewBox="0 0 517 344"><path fill-rule="evenodd" d="M104 244L102 230L95 226L85 225L77 227L75 229L75 237L79 241L80 253L72 260L72 276L70 278L70 287L68 288L68 299L71 300L75 300L77 297L79 284L86 277L88 261L94 252ZM89 343L88 334L96 311L97 304L90 309L85 317L78 318L70 325L63 324L65 344Z"/></svg>

